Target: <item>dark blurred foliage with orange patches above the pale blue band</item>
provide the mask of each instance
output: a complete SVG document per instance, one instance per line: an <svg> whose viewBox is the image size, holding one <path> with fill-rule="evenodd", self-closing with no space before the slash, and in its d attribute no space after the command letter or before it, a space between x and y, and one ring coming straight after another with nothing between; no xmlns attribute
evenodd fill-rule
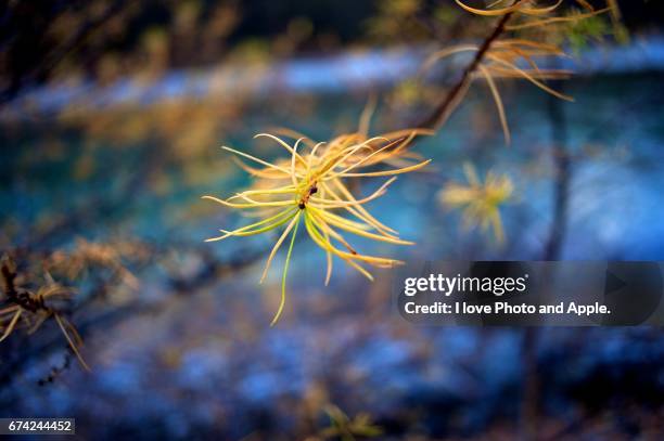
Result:
<svg viewBox="0 0 664 441"><path fill-rule="evenodd" d="M583 4L583 3L582 3ZM602 0L585 2L598 9ZM569 2L570 11L583 10ZM621 4L621 26L656 27L662 4ZM463 35L486 24L452 1L17 1L2 5L0 90L94 78L108 83L166 68L215 66L331 53L348 47L394 46ZM571 12L570 12L571 13ZM574 39L605 34L605 21L576 24ZM624 34L623 31L621 31ZM569 35L569 33L565 33Z"/></svg>

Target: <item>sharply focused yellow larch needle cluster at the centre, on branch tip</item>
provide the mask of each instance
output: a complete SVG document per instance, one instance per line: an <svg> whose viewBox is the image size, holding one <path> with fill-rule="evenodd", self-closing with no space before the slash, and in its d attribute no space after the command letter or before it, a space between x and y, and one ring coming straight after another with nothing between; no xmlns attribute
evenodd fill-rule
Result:
<svg viewBox="0 0 664 441"><path fill-rule="evenodd" d="M233 236L252 236L283 228L274 243L265 265L260 281L265 280L277 251L288 242L288 251L281 282L281 301L272 320L279 320L285 303L285 283L289 262L301 224L309 238L327 255L325 284L332 275L333 259L339 258L362 275L372 280L366 267L390 268L401 263L398 260L369 256L359 252L346 238L347 234L373 241L411 245L399 234L379 221L367 209L367 204L385 194L397 174L416 171L430 160L412 160L406 147L426 130L401 130L381 137L367 138L360 130L344 134L325 143L314 143L299 138L289 144L273 134L260 133L288 152L281 161L269 163L247 153L222 147L235 155L238 164L256 178L256 185L235 195L214 200L231 209L250 211L260 220L233 231L221 230L221 235L207 242L222 241ZM285 137L284 137L285 138ZM245 160L254 163L247 165ZM258 165L259 167L256 167ZM368 168L371 167L371 170ZM348 180L361 178L388 178L368 196L356 196L349 189Z"/></svg>

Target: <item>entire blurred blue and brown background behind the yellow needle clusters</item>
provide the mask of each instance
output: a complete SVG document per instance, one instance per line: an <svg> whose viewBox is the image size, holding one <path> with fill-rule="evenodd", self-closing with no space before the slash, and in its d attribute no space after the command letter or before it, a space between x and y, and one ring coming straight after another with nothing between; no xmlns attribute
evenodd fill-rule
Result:
<svg viewBox="0 0 664 441"><path fill-rule="evenodd" d="M545 66L579 72L549 82L576 103L500 80L508 148L490 91L471 88L414 148L433 167L372 208L418 246L360 244L401 259L664 260L663 12L621 1L518 31L576 56ZM0 254L25 298L63 298L0 345L1 416L75 416L90 438L661 436L659 329L418 328L391 310L388 272L368 284L340 270L324 288L305 244L269 329L279 277L256 281L270 241L203 243L237 219L200 195L247 184L219 145L274 158L256 132L331 139L372 96L371 133L408 127L469 62L425 74L426 56L493 25L452 1L2 2ZM509 179L502 244L440 203L467 163ZM76 327L91 373L49 310Z"/></svg>

